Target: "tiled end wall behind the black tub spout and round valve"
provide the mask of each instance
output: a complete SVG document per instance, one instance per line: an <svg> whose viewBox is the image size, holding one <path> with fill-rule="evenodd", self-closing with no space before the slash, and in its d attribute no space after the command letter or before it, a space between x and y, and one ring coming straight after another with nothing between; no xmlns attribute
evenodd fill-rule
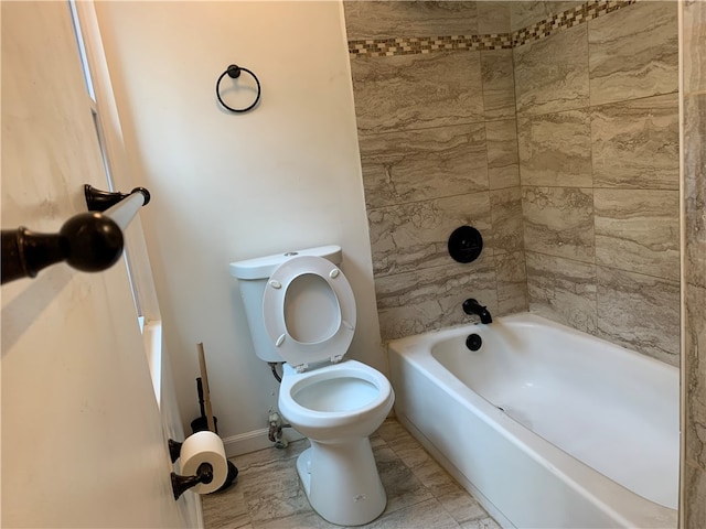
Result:
<svg viewBox="0 0 706 529"><path fill-rule="evenodd" d="M383 339L461 323L471 296L526 310L507 6L344 6ZM467 264L462 225L484 239Z"/></svg>

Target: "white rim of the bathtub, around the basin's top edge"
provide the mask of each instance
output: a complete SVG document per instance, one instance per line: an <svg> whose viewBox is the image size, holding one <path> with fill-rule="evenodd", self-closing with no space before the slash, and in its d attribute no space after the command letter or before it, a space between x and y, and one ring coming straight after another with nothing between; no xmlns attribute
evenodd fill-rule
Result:
<svg viewBox="0 0 706 529"><path fill-rule="evenodd" d="M607 342L600 337L582 333L536 314L525 312L509 316L501 316L496 319L496 321L548 326L573 335L588 336L591 339L595 338L609 344L610 346L619 347L632 355L638 355L641 360L666 365L657 359L641 355L625 347ZM495 430L528 457L532 457L536 463L553 474L558 475L567 486L577 492L577 494L580 494L581 497L586 498L586 500L590 501L596 507L608 512L618 523L623 527L676 527L676 509L664 507L638 495L522 425L459 380L431 354L431 346L441 339L458 338L478 327L488 327L491 325L492 324L454 325L452 327L429 331L419 335L393 339L387 344L387 353L388 356L396 354L402 359L408 361L414 368L422 370L435 385L442 388L456 402L469 412L474 413L485 424ZM392 361L391 381L394 387L395 380L392 373ZM397 391L397 389L395 390ZM427 444L434 449L429 450L429 446L426 446L430 452L436 453L436 455L441 454L442 460L445 460L447 464L453 466L452 469L449 469L457 479L459 479L460 475L463 476L462 482L467 482L464 485L468 485L468 483L473 485L472 482L470 482L470 479L468 479L468 477L466 477L463 473L456 467L453 462L437 449L424 432L417 428L411 418L407 417L403 412L398 413L397 409L395 410L395 413L400 418L400 422L406 425L410 423L414 429L424 436ZM404 420L402 419L403 417ZM486 510L494 514L499 512L499 509L483 495L481 490L474 486L472 488L472 493L480 493L481 497L477 497L477 499L486 508ZM502 515L502 511L500 511L500 514ZM504 515L502 515L502 518L505 518Z"/></svg>

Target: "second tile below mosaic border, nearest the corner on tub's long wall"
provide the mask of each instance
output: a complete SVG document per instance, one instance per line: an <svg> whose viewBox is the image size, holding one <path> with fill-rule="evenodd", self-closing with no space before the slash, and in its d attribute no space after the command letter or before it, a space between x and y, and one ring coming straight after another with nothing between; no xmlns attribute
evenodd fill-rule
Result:
<svg viewBox="0 0 706 529"><path fill-rule="evenodd" d="M588 110L518 118L517 137L522 185L592 185Z"/></svg>

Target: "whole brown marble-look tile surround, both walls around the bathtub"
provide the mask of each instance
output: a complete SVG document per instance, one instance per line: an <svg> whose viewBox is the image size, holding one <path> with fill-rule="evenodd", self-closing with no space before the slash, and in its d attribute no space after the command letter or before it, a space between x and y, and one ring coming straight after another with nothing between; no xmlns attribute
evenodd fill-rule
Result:
<svg viewBox="0 0 706 529"><path fill-rule="evenodd" d="M676 2L345 15L383 339L474 296L677 365ZM462 224L471 264L446 252Z"/></svg>

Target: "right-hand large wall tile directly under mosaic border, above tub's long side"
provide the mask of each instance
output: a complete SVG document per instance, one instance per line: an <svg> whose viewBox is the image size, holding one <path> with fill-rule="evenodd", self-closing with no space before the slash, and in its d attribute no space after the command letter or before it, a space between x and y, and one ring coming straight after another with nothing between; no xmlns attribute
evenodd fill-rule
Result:
<svg viewBox="0 0 706 529"><path fill-rule="evenodd" d="M640 1L588 22L591 105L678 89L677 2Z"/></svg>

